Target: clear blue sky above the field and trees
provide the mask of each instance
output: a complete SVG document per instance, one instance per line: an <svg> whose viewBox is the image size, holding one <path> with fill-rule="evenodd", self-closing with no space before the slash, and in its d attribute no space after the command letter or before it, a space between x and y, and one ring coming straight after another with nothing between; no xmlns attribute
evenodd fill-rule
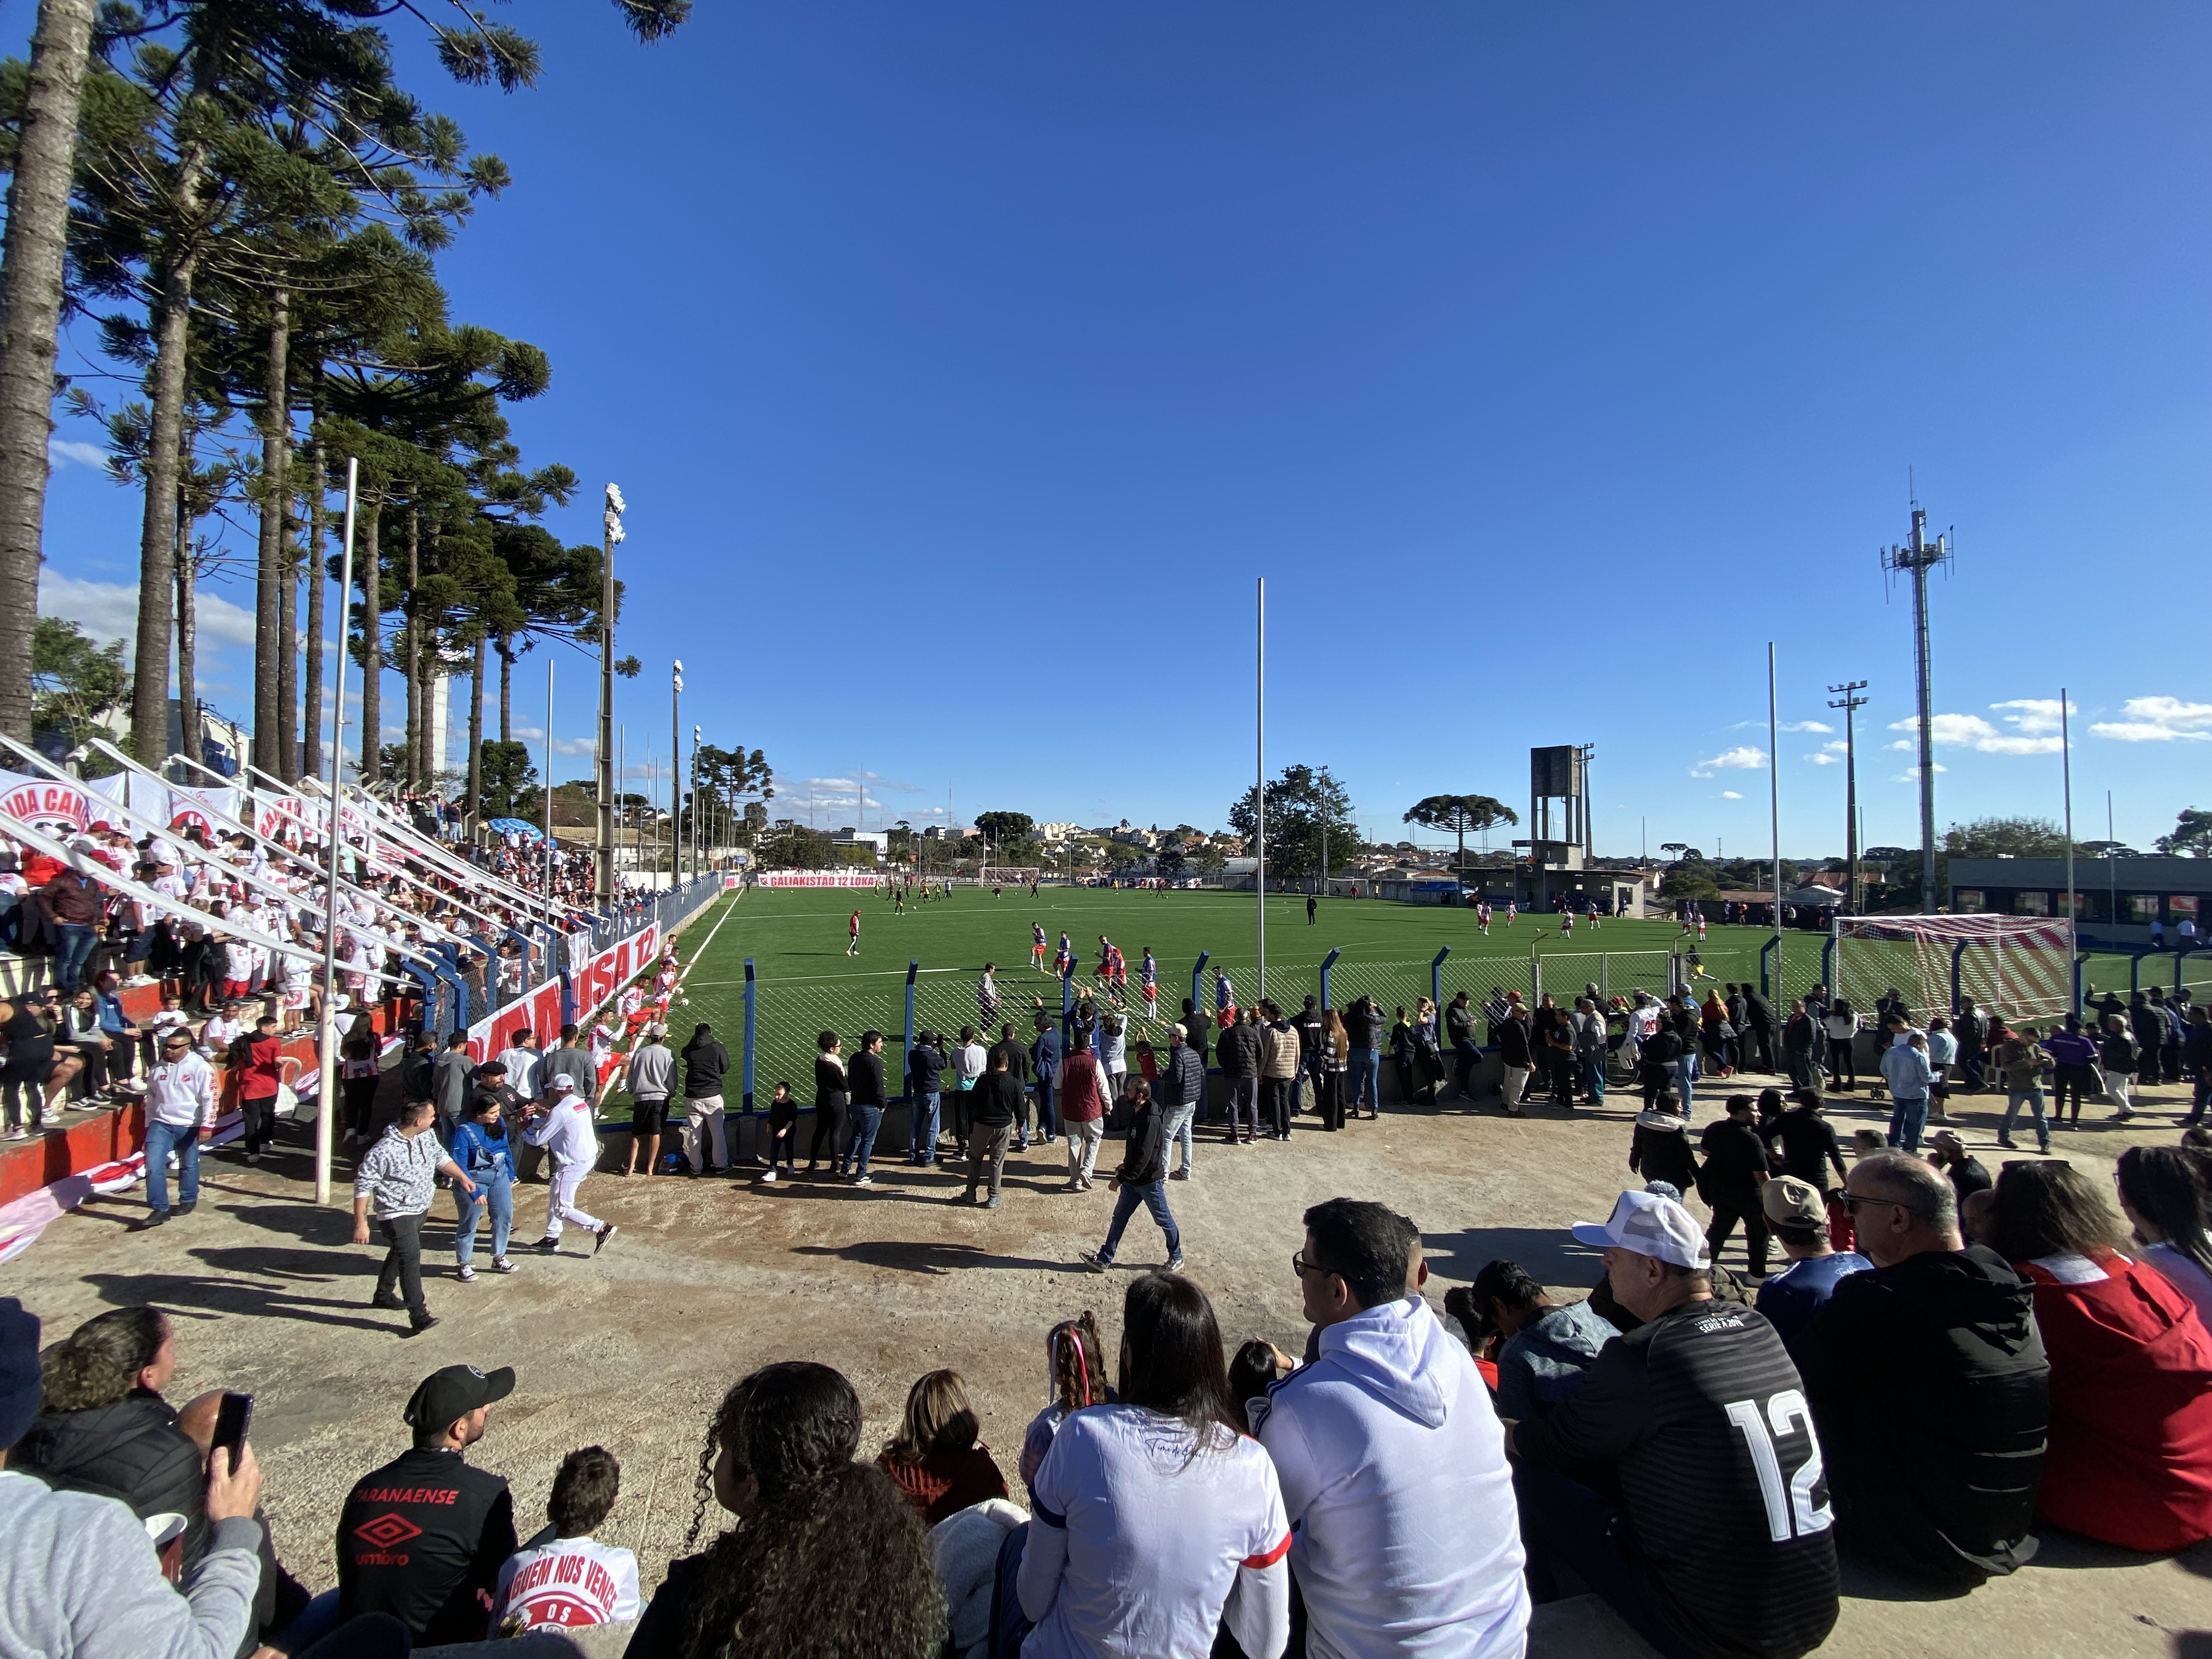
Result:
<svg viewBox="0 0 2212 1659"><path fill-rule="evenodd" d="M1867 836L1909 843L1911 469L1958 538L1938 821L2057 814L2062 684L2084 836L2106 790L2135 845L2212 803L2203 7L513 20L535 91L411 82L515 175L442 274L551 352L555 529L630 502L633 768L681 657L686 726L830 825L856 774L869 825L1217 825L1265 575L1270 761L1369 834L1584 741L1599 852L1763 849L1774 639L1783 721L1871 681ZM128 617L135 529L64 465L46 606ZM1838 737L1783 734L1792 854L1843 845Z"/></svg>

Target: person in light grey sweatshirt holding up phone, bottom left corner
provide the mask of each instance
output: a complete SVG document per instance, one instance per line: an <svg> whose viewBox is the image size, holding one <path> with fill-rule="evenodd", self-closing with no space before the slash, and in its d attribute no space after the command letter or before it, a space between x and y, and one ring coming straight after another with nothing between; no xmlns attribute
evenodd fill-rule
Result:
<svg viewBox="0 0 2212 1659"><path fill-rule="evenodd" d="M252 1447L210 1462L197 1504L208 1542L184 1579L170 1584L144 1522L126 1504L55 1491L9 1467L38 1402L38 1318L13 1296L0 1296L0 1608L7 1610L0 1630L9 1650L131 1659L243 1652L261 1573L254 1520L261 1467Z"/></svg>

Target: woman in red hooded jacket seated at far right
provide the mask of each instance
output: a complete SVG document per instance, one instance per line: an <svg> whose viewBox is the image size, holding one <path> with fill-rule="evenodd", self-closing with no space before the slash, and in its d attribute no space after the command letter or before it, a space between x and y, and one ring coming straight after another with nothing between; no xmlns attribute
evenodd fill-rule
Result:
<svg viewBox="0 0 2212 1659"><path fill-rule="evenodd" d="M2035 1513L2132 1551L2212 1537L2212 1334L2121 1254L2121 1221L2066 1164L2006 1164L1991 1245L2035 1285L2051 1451Z"/></svg>

